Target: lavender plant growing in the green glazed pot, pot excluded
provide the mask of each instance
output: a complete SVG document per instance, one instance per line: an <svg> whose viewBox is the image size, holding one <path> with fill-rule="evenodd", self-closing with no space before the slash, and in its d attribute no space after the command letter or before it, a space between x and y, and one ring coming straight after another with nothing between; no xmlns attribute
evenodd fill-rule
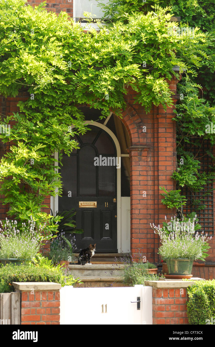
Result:
<svg viewBox="0 0 215 347"><path fill-rule="evenodd" d="M190 260L205 260L208 256L207 251L210 248L207 241L212 237L204 235L204 231L195 231L196 215L192 222L189 219L188 223L181 223L176 216L171 217L172 230L160 225L155 226L154 223L150 227L155 234L160 236L162 245L159 247L158 254L162 259L190 259ZM167 222L167 217L165 217Z"/></svg>

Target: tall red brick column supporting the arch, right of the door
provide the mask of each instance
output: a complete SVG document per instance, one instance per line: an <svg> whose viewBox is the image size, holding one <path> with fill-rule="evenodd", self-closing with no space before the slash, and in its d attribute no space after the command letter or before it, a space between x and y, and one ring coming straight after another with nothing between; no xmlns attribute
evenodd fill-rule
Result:
<svg viewBox="0 0 215 347"><path fill-rule="evenodd" d="M147 255L147 146L131 146L131 253ZM143 196L146 192L146 196ZM143 247L143 248L142 248Z"/></svg>

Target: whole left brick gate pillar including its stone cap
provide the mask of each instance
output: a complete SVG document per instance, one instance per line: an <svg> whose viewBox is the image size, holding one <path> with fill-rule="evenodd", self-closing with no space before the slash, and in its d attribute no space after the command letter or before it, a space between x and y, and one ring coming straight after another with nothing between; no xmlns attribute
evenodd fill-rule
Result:
<svg viewBox="0 0 215 347"><path fill-rule="evenodd" d="M21 324L60 324L59 283L13 282L21 296Z"/></svg>

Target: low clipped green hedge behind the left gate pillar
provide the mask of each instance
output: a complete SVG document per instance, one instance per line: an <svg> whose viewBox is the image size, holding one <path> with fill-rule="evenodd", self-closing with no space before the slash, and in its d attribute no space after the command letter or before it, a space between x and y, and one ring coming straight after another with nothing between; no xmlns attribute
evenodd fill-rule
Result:
<svg viewBox="0 0 215 347"><path fill-rule="evenodd" d="M26 265L15 266L7 264L0 266L0 293L15 291L12 282L55 282L61 283L61 273L45 268L29 267Z"/></svg>

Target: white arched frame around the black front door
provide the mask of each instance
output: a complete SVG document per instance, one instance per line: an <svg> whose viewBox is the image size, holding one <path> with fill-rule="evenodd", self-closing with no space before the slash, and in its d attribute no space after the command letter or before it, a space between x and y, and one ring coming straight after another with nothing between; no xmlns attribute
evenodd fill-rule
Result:
<svg viewBox="0 0 215 347"><path fill-rule="evenodd" d="M119 158L121 156L121 150L120 150L120 145L119 142L114 135L113 132L109 128L107 128L105 125L98 123L98 122L93 122L93 121L85 121L84 124L86 125L94 125L98 128L101 128L106 131L110 135L110 137L113 139L115 146L116 146L116 152L117 152L117 157ZM72 128L74 126L71 126ZM54 152L54 158L55 158L55 166L58 166L58 152ZM58 170L57 170L58 171ZM117 171L117 249L118 253L122 252L121 249L121 167L119 169L116 169ZM52 204L52 211L55 213L55 211L58 211L58 188L55 189L56 196L51 197L51 204ZM51 207L51 208L52 208Z"/></svg>

